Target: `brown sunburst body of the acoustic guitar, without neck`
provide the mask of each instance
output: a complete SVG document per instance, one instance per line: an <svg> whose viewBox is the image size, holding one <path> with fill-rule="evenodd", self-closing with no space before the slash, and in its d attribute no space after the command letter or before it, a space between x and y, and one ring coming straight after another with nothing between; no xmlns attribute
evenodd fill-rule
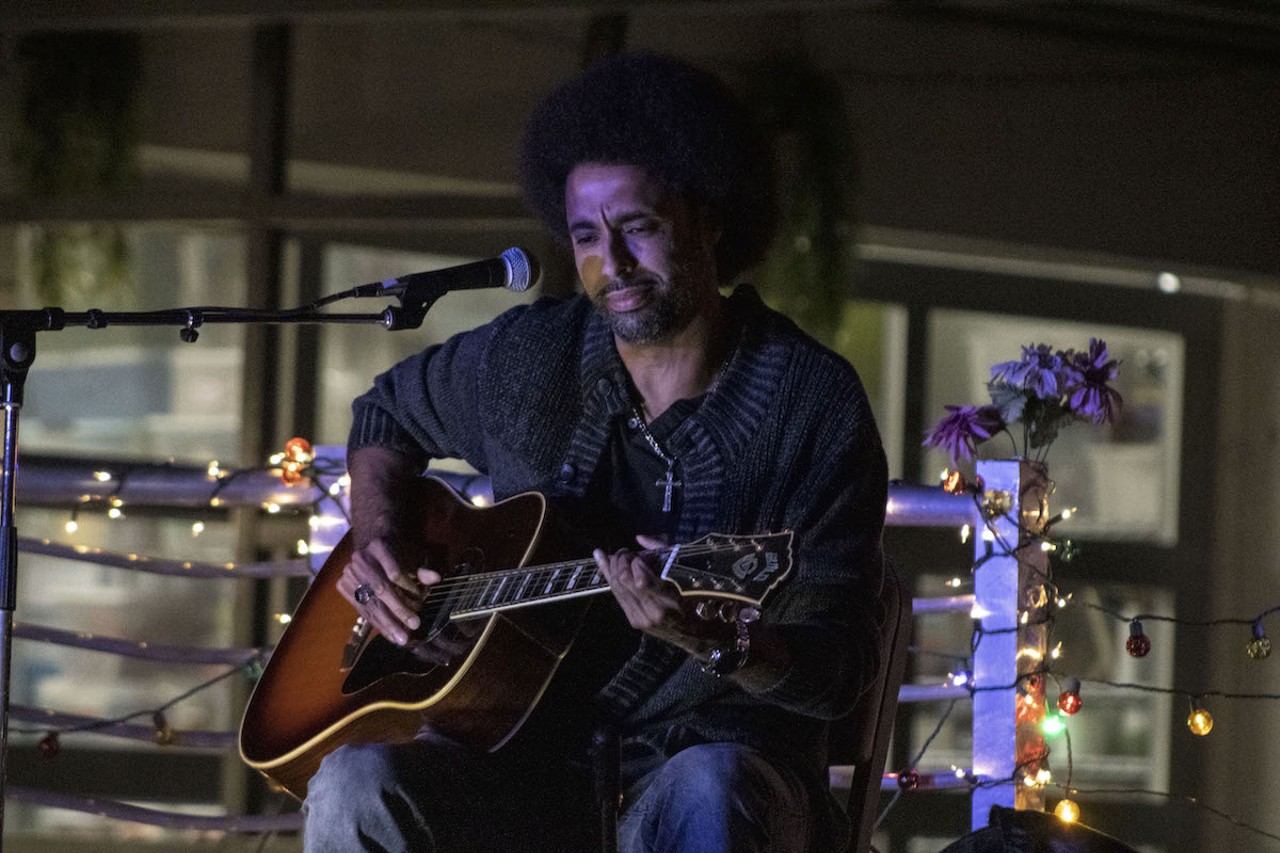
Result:
<svg viewBox="0 0 1280 853"><path fill-rule="evenodd" d="M440 480L421 483L425 562L447 579L524 566L558 547L540 494L480 508ZM429 725L497 749L545 690L584 611L573 601L481 615L470 651L449 666L419 661L375 633L347 669L358 613L337 583L351 555L348 533L294 611L241 724L244 762L300 799L320 761L347 743L410 740ZM453 626L445 620L442 630Z"/></svg>

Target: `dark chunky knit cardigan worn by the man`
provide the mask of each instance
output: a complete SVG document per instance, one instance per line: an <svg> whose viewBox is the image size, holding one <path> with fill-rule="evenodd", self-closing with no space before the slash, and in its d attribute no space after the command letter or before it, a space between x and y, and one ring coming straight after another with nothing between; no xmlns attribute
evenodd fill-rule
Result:
<svg viewBox="0 0 1280 853"><path fill-rule="evenodd" d="M790 529L794 566L764 602L791 657L748 693L644 637L602 694L623 736L667 754L746 743L826 789L826 720L850 710L877 665L886 465L847 361L739 287L741 332L716 388L664 442L680 460L678 539ZM462 459L498 500L581 498L630 414L630 378L584 296L544 298L396 365L353 403L349 450ZM570 652L572 654L572 651Z"/></svg>

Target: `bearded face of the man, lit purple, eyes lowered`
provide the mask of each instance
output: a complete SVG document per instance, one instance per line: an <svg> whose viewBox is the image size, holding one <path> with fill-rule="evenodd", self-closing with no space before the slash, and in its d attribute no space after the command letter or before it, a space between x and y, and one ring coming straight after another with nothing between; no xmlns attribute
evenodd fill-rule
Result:
<svg viewBox="0 0 1280 853"><path fill-rule="evenodd" d="M718 298L719 233L645 170L579 165L564 183L564 213L586 295L621 341L668 339Z"/></svg>

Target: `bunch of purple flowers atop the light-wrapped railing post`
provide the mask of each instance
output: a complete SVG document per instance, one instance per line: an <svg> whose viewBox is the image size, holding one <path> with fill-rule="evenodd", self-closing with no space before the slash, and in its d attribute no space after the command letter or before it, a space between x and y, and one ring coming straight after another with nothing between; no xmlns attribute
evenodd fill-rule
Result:
<svg viewBox="0 0 1280 853"><path fill-rule="evenodd" d="M1089 339L1087 352L1053 351L1039 343L1023 347L1018 361L991 368L991 403L947 406L947 416L929 432L925 447L945 450L951 464L972 460L978 444L1004 432L1012 455L1043 462L1059 430L1074 420L1108 424L1123 400L1111 387L1120 364L1107 353L1107 345ZM1021 424L1021 444L1012 432Z"/></svg>

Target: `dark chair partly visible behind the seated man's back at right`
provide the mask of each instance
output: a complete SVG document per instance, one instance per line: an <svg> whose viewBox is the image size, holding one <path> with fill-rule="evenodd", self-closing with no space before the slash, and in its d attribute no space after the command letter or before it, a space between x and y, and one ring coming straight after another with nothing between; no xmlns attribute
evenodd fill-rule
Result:
<svg viewBox="0 0 1280 853"><path fill-rule="evenodd" d="M884 566L881 588L881 662L870 686L845 717L831 724L827 761L833 776L850 777L846 811L851 833L847 853L870 849L879 816L881 777L893 734L897 692L906 674L906 651L911 639L911 596L892 565ZM842 786L842 785L841 785Z"/></svg>

